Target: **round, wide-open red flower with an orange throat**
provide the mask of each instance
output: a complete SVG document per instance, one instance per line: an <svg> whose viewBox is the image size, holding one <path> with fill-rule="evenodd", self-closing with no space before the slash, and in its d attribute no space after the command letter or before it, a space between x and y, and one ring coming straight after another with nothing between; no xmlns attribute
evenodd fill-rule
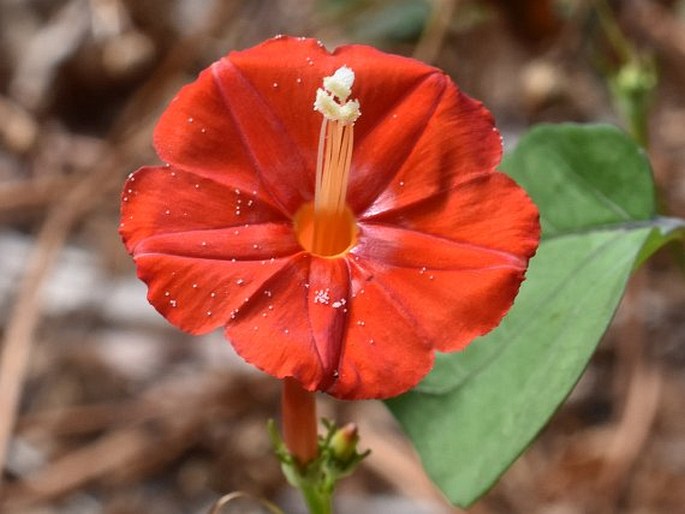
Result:
<svg viewBox="0 0 685 514"><path fill-rule="evenodd" d="M353 114L340 121L312 108L336 70L317 109ZM149 301L193 334L225 327L245 360L308 390L408 390L435 350L499 323L537 247L488 111L369 47L232 52L181 90L154 143L168 164L130 176L120 228Z"/></svg>

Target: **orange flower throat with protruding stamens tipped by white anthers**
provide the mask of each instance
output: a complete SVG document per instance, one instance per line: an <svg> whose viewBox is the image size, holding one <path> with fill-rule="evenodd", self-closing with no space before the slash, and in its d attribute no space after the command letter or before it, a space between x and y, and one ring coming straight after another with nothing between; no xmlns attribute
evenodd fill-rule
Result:
<svg viewBox="0 0 685 514"><path fill-rule="evenodd" d="M345 253L356 237L354 215L345 202L352 164L354 122L361 116L359 102L350 100L354 72L338 68L316 91L314 110L323 115L316 159L314 202L295 216L300 244L324 257Z"/></svg>

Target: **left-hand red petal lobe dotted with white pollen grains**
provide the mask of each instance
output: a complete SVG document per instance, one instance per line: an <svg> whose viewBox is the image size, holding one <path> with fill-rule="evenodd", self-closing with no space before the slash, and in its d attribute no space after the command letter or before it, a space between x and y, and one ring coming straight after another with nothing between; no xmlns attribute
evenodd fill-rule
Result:
<svg viewBox="0 0 685 514"><path fill-rule="evenodd" d="M170 167L129 177L120 233L150 303L196 334L225 324L302 250L292 222L251 192Z"/></svg>

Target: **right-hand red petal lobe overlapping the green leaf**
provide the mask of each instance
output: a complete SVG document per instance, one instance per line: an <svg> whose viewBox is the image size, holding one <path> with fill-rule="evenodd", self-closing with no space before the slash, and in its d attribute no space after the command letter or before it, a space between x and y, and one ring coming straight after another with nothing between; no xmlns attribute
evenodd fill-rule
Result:
<svg viewBox="0 0 685 514"><path fill-rule="evenodd" d="M442 351L462 349L499 324L540 232L535 206L500 173L359 226L355 264Z"/></svg>

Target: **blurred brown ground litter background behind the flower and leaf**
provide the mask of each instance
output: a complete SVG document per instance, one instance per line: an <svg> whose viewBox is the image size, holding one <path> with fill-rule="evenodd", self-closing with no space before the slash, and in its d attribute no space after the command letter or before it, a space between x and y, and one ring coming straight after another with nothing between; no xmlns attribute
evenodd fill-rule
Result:
<svg viewBox="0 0 685 514"><path fill-rule="evenodd" d="M443 68L493 111L507 148L538 122L630 129L632 98L663 210L685 217L682 0L0 0L0 512L206 513L235 490L301 512L265 431L278 382L220 333L167 325L117 235L121 185L158 162L151 134L171 97L279 33ZM469 512L685 512L672 257L635 277L575 391ZM373 449L339 512L462 512L380 402L322 397L321 413L356 421Z"/></svg>

